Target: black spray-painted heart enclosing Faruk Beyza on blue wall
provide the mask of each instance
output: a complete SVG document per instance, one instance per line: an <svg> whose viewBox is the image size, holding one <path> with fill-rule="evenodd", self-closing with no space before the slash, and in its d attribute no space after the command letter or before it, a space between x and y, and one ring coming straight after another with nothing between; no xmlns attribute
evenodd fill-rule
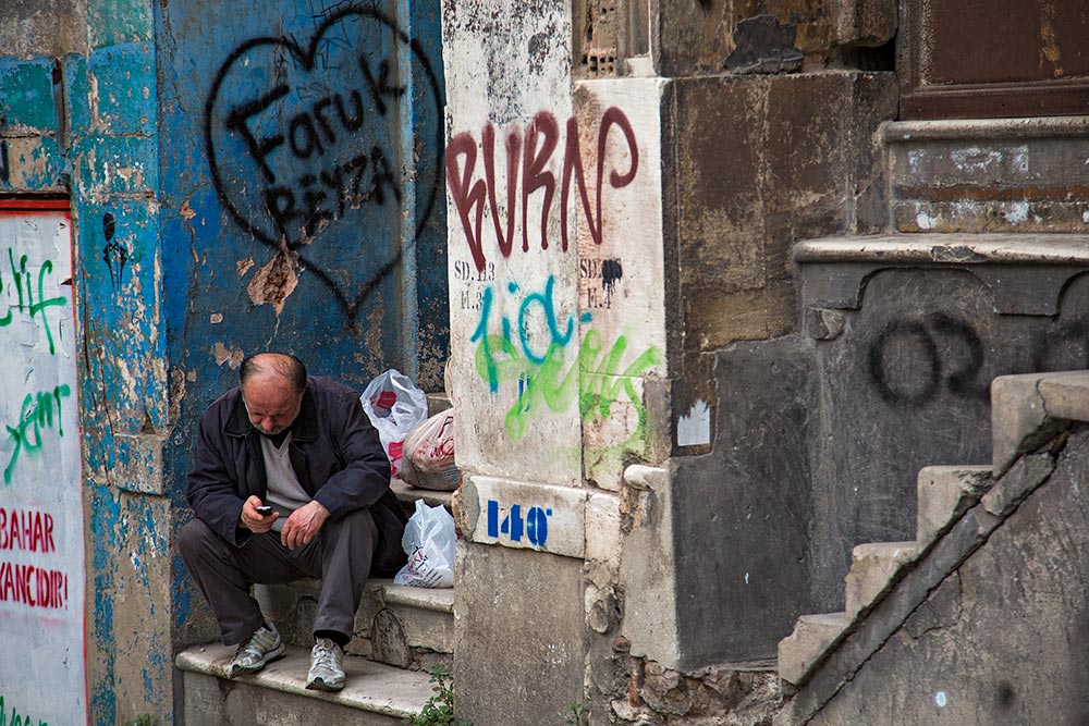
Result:
<svg viewBox="0 0 1089 726"><path fill-rule="evenodd" d="M212 183L235 223L294 250L353 320L435 207L442 165L416 179L412 159L441 158L441 124L431 138L414 131L441 103L418 40L372 9L330 16L305 46L254 38L220 66L205 104Z"/></svg>

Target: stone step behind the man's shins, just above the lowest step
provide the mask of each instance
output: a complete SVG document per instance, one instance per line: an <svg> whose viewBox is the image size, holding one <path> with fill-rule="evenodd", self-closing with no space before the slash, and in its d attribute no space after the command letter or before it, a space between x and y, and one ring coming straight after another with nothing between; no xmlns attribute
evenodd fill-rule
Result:
<svg viewBox="0 0 1089 726"><path fill-rule="evenodd" d="M291 645L308 649L320 582L257 586L258 602ZM371 579L355 615L347 652L399 668L450 667L454 650L454 591Z"/></svg>

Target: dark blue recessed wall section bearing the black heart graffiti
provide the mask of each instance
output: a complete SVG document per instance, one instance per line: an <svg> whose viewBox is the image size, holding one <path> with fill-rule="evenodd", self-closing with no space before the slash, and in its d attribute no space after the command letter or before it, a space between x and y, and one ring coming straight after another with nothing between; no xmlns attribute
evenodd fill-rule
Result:
<svg viewBox="0 0 1089 726"><path fill-rule="evenodd" d="M438 0L156 3L175 530L197 419L244 355L441 390L439 20ZM175 650L217 635L176 561L171 602Z"/></svg>

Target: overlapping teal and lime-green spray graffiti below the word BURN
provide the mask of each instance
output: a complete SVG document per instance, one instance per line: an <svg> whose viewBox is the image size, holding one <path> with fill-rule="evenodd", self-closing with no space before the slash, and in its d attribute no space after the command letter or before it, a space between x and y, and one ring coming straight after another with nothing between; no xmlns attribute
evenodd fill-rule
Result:
<svg viewBox="0 0 1089 726"><path fill-rule="evenodd" d="M627 336L620 335L609 350L602 353L601 333L590 329L579 342L574 361L568 365L567 348L574 337L574 319L568 316L561 325L555 313L553 286L554 279L549 276L542 293L527 295L522 300L516 339L505 317L501 321L501 334L487 332L492 291L490 287L485 291L480 322L470 342L477 343L474 359L477 374L487 381L492 393L499 390L500 383L518 383L518 399L506 411L504 419L506 432L518 440L525 435L539 411L550 409L562 413L576 403L582 420L605 418L624 394L635 404L639 417L628 441L640 438L646 428L646 411L635 390L635 378L662 362L661 350L650 346L621 370L628 347ZM517 292L517 285L512 283L510 291ZM526 333L526 315L531 305L541 308L550 333L549 346L543 355L533 350ZM584 323L591 319L589 312L580 317Z"/></svg>

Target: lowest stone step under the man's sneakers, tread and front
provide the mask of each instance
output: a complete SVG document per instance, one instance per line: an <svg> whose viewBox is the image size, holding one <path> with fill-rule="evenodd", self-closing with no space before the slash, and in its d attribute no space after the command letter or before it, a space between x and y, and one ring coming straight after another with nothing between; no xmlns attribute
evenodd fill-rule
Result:
<svg viewBox="0 0 1089 726"><path fill-rule="evenodd" d="M393 726L416 716L432 696L430 676L346 656L344 690L306 690L309 650L289 648L259 673L230 680L234 647L204 645L175 659L186 726L351 724Z"/></svg>

